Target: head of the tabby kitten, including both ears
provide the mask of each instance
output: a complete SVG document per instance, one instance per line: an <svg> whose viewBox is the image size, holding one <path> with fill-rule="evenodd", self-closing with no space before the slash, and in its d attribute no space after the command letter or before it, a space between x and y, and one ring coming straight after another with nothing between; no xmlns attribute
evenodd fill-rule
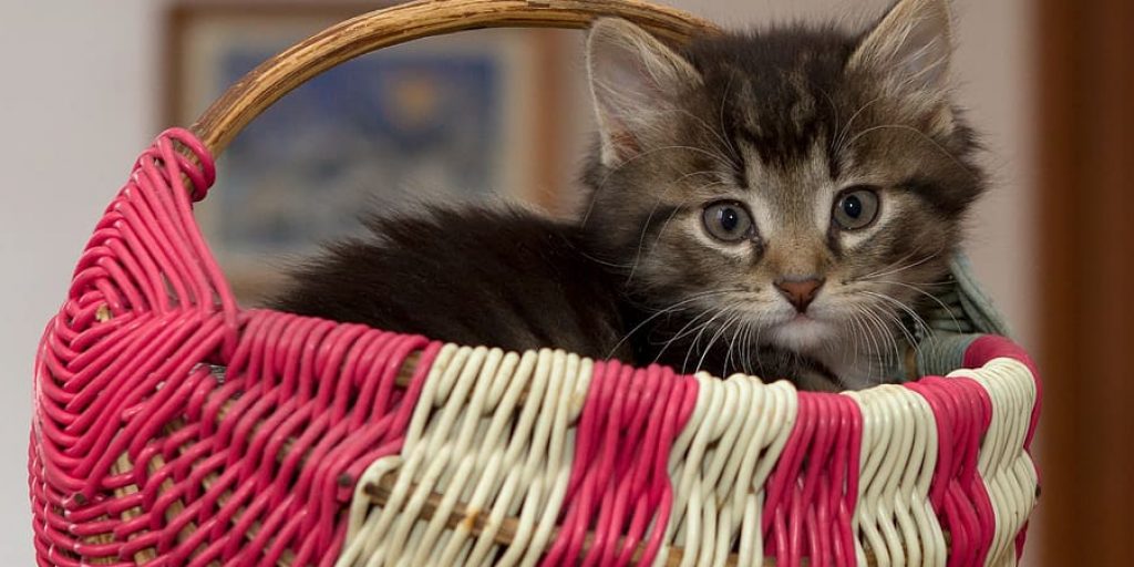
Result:
<svg viewBox="0 0 1134 567"><path fill-rule="evenodd" d="M982 188L936 7L899 2L862 39L784 29L683 56L600 24L586 221L607 260L653 310L750 340L896 349L885 342L946 274Z"/></svg>

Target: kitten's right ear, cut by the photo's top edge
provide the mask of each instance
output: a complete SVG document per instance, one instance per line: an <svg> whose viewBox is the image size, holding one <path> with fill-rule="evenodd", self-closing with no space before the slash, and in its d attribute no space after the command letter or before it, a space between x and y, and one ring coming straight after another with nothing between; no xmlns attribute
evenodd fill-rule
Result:
<svg viewBox="0 0 1134 567"><path fill-rule="evenodd" d="M850 57L850 67L890 74L912 90L943 90L953 56L949 0L898 0Z"/></svg>

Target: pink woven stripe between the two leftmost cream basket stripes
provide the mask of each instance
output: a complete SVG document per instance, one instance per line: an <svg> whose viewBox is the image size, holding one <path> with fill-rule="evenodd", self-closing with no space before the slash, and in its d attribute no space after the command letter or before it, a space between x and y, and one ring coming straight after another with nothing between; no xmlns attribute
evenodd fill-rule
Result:
<svg viewBox="0 0 1134 567"><path fill-rule="evenodd" d="M653 561L672 508L666 463L696 401L696 380L668 369L595 363L579 416L559 534L542 565L627 565L652 526ZM584 550L586 535L593 542Z"/></svg>

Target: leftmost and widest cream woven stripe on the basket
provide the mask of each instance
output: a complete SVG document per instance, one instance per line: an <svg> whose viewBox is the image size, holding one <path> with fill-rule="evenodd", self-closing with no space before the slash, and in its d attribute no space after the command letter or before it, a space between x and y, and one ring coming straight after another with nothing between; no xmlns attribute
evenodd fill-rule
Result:
<svg viewBox="0 0 1134 567"><path fill-rule="evenodd" d="M359 481L363 490L397 474L393 490L412 496L391 494L382 507L356 496L338 565L539 561L562 505L574 450L570 426L592 371L591 361L564 352L506 355L446 346L414 411L403 456L375 462ZM442 498L432 519L422 521L432 494ZM472 522L446 527L458 503L467 518L488 510L477 530ZM506 519L515 521L516 532L497 559L496 538Z"/></svg>

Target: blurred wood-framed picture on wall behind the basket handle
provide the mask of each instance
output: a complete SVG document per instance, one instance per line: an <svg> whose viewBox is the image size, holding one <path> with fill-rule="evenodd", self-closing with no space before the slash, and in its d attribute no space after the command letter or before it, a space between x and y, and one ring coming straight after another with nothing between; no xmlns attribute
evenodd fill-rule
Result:
<svg viewBox="0 0 1134 567"><path fill-rule="evenodd" d="M169 9L166 124L188 126L245 73L380 3L185 1ZM561 40L485 29L387 48L286 95L218 161L197 218L237 296L271 294L362 212L421 201L555 209Z"/></svg>

